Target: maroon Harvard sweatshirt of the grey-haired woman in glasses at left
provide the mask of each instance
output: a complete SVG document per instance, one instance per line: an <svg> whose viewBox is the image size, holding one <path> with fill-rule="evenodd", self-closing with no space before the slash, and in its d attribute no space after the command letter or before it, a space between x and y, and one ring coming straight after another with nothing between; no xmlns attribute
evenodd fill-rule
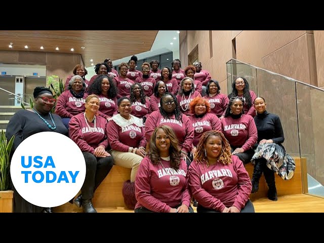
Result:
<svg viewBox="0 0 324 243"><path fill-rule="evenodd" d="M55 114L62 118L71 118L84 112L87 96L88 94L84 93L83 98L75 98L69 90L64 91L57 100Z"/></svg>

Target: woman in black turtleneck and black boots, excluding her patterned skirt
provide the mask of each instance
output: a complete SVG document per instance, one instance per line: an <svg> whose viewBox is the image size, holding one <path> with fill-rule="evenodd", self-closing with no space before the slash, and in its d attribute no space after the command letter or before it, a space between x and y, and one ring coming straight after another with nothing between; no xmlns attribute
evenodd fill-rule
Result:
<svg viewBox="0 0 324 243"><path fill-rule="evenodd" d="M276 114L268 113L266 111L266 105L267 103L265 103L265 100L262 97L257 97L254 100L254 108L257 111L257 115L254 117L254 121L258 130L258 143L272 143L281 145L281 143L285 141L285 137L284 132L282 131L280 118ZM282 146L280 147L283 148ZM274 149L277 150L278 147L275 147ZM283 149L283 151L285 150ZM254 162L255 166L252 177L252 193L258 191L259 180L263 172L269 187L268 198L270 200L276 201L278 198L277 190L275 188L274 171L270 170L266 166L267 161L263 157L255 159Z"/></svg>

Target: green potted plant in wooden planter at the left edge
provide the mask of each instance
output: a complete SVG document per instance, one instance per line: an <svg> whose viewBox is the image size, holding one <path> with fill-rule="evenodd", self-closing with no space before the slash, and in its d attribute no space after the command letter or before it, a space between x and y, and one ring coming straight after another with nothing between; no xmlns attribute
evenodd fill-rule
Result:
<svg viewBox="0 0 324 243"><path fill-rule="evenodd" d="M14 192L10 186L10 152L14 136L8 141L4 131L0 134L0 213L13 212Z"/></svg>

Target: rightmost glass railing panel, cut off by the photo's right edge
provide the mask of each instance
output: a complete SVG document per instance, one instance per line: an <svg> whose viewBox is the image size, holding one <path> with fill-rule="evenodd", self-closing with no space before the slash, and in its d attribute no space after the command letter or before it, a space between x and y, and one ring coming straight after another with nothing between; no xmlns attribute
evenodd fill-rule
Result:
<svg viewBox="0 0 324 243"><path fill-rule="evenodd" d="M307 159L309 193L324 196L324 92L296 83L301 156ZM314 179L314 180L313 180Z"/></svg>

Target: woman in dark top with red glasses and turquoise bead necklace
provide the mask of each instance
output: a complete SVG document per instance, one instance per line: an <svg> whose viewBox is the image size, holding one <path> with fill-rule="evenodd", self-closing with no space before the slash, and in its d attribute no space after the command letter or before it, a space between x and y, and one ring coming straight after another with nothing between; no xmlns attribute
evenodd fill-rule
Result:
<svg viewBox="0 0 324 243"><path fill-rule="evenodd" d="M32 110L20 110L10 119L7 126L6 137L11 139L15 136L12 147L12 154L19 144L31 135L41 132L55 132L68 136L68 131L62 119L51 110L56 102L53 93L45 87L34 89L34 106ZM14 212L15 213L52 213L51 208L42 208L28 203L22 198L12 185L14 191Z"/></svg>

